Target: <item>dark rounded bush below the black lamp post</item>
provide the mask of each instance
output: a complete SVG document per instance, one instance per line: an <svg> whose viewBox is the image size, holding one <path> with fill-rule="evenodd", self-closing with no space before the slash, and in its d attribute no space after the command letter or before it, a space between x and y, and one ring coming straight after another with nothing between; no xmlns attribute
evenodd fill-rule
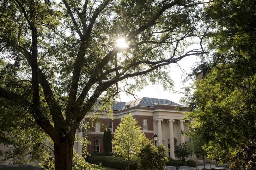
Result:
<svg viewBox="0 0 256 170"><path fill-rule="evenodd" d="M163 170L168 158L165 155L168 151L162 144L158 147L152 144L153 142L147 140L138 154L138 169L141 170Z"/></svg>

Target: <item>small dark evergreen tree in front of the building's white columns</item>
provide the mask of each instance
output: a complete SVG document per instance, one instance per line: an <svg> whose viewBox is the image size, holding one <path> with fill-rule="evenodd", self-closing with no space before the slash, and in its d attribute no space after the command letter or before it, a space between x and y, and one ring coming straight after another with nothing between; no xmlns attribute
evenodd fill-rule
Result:
<svg viewBox="0 0 256 170"><path fill-rule="evenodd" d="M180 160L185 161L186 157L189 156L189 152L187 149L187 142L182 142L177 145L177 139L174 140L174 155Z"/></svg>

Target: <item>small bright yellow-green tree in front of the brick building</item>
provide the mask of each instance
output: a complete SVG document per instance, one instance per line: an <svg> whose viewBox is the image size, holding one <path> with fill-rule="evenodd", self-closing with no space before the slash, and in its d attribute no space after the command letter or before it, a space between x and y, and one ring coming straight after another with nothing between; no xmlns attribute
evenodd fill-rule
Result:
<svg viewBox="0 0 256 170"><path fill-rule="evenodd" d="M124 157L128 162L136 157L146 140L145 134L141 133L141 127L137 125L131 113L121 119L120 126L117 127L113 140L113 152L116 156Z"/></svg>

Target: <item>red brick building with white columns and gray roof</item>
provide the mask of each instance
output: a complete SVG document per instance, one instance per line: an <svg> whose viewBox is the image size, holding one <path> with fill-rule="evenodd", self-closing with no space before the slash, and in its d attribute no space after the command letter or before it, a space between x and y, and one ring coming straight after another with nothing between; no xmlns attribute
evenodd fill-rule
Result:
<svg viewBox="0 0 256 170"><path fill-rule="evenodd" d="M170 100L147 97L129 102L115 102L113 105L113 119L107 114L102 114L101 122L93 122L94 127L88 129L91 131L87 134L91 142L91 145L87 147L88 152L104 153L102 144L104 128L101 127L101 124L111 129L113 136L121 118L131 113L133 118L136 118L138 125L142 127L141 132L145 133L149 139L153 139L153 135L156 133L158 144L161 142L166 148L169 148L170 152L167 155L174 158L174 139L177 139L178 144L189 140L188 137L182 136L180 133L181 130L188 130L186 125L188 121L181 120L185 115L183 111L175 110L176 107L183 106ZM97 108L94 109L97 110ZM88 116L92 116L93 113L94 111L88 113ZM83 124L89 121L89 117L83 120ZM81 135L79 133L78 138ZM75 144L78 153L81 151L79 148L79 144Z"/></svg>

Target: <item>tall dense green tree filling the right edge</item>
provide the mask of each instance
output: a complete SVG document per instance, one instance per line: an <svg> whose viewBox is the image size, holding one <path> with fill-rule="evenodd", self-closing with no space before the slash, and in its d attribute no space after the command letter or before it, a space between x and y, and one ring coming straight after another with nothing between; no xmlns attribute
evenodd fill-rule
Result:
<svg viewBox="0 0 256 170"><path fill-rule="evenodd" d="M188 135L206 143L209 157L242 169L253 169L255 161L255 150L248 152L256 139L255 3L220 0L206 8L213 54L194 70L203 78L186 96L195 120Z"/></svg>

